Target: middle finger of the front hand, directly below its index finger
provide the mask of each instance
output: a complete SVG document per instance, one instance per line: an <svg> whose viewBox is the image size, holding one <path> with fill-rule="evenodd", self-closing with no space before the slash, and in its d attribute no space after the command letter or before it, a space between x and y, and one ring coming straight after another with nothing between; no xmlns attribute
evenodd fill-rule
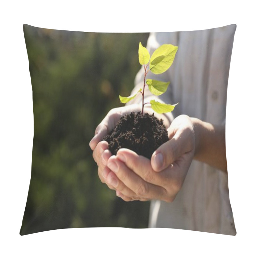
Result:
<svg viewBox="0 0 256 256"><path fill-rule="evenodd" d="M128 162L129 161L127 161L127 163ZM139 175L129 169L126 164L118 160L116 156L111 156L108 159L107 166L116 174L116 177L122 181L127 188L131 189L140 199L148 200L164 197L166 191L164 188L146 182ZM123 193L122 190L120 191Z"/></svg>

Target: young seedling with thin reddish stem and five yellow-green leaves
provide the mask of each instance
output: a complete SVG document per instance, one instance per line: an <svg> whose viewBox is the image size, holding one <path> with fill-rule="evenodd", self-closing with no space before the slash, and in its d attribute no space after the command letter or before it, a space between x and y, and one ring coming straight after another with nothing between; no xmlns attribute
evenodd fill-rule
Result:
<svg viewBox="0 0 256 256"><path fill-rule="evenodd" d="M150 54L147 48L142 46L140 42L139 62L140 62L140 65L144 66L144 70L145 70L143 92L141 92L142 88L140 88L138 92L130 95L129 97L122 97L119 95L120 101L122 103L127 103L128 101L134 99L136 95L140 92L142 94L142 111L141 111L142 115L143 115L145 104L151 104L151 108L159 114L171 112L178 103L174 105L170 105L170 104L163 104L155 100L150 100L150 102L144 103L144 92L145 92L145 86L148 86L149 91L156 96L159 96L164 92L166 92L170 82L162 82L162 81L157 81L153 79L146 80L146 76L149 70L153 74L158 75L158 74L164 73L168 68L170 68L177 50L178 50L178 46L174 46L172 44L163 44L160 47L158 47L150 57Z"/></svg>

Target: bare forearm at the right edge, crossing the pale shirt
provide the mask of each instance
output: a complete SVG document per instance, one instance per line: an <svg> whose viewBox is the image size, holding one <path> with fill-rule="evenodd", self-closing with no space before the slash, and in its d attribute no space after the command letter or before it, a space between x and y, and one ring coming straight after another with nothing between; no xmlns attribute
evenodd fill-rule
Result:
<svg viewBox="0 0 256 256"><path fill-rule="evenodd" d="M194 159L227 173L225 125L212 125L191 118L196 148Z"/></svg>

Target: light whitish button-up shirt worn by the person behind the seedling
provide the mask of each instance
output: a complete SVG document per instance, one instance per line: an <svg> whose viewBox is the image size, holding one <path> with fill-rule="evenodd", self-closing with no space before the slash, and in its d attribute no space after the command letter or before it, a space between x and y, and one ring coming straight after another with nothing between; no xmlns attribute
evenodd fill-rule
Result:
<svg viewBox="0 0 256 256"><path fill-rule="evenodd" d="M165 103L179 102L170 121L186 114L203 121L224 125L226 118L228 73L236 25L199 31L152 33L147 49L150 55L162 44L179 46L172 66L161 75L148 72L147 78L170 81L167 92L158 96ZM135 79L142 88L144 68ZM132 93L133 93L132 92ZM147 97L155 98L149 91ZM137 96L131 103L139 103ZM147 100L148 101L148 100ZM149 227L179 228L236 235L229 202L228 175L193 160L182 189L174 202L153 200Z"/></svg>

